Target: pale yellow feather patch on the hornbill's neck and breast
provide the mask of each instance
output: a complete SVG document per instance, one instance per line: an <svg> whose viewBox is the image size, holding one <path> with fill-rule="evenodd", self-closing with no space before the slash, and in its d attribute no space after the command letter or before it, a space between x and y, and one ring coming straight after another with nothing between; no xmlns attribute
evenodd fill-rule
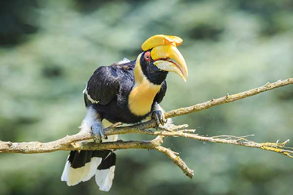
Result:
<svg viewBox="0 0 293 195"><path fill-rule="evenodd" d="M135 84L128 97L128 108L136 116L144 116L151 110L151 105L161 85L151 83L143 74L140 66L141 54L137 57L134 68Z"/></svg>

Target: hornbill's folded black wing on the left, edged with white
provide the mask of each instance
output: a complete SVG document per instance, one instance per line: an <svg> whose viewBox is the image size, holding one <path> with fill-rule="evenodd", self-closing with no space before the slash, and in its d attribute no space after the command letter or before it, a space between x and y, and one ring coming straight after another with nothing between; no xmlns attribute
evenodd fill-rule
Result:
<svg viewBox="0 0 293 195"><path fill-rule="evenodd" d="M101 66L89 78L84 89L86 106L90 103L105 105L119 92L119 77L115 67Z"/></svg>

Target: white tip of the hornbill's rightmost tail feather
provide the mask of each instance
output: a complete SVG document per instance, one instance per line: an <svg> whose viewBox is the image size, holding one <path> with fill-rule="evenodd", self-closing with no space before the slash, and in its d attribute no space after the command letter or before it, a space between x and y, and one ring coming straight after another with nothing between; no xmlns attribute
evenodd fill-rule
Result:
<svg viewBox="0 0 293 195"><path fill-rule="evenodd" d="M108 192L112 187L114 179L115 165L111 166L109 169L97 170L95 179L96 183L99 186L99 190Z"/></svg>

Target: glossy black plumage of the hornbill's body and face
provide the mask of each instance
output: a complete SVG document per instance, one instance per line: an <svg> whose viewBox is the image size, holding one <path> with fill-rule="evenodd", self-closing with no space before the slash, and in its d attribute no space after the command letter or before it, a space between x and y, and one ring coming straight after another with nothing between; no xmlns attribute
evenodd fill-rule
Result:
<svg viewBox="0 0 293 195"><path fill-rule="evenodd" d="M93 103L88 96L84 95L85 105L92 106L102 117L108 121L137 123L145 119L154 110L155 104L160 103L167 90L166 76L167 72L152 71L150 64L141 59L141 68L148 80L157 78L154 84L161 84L160 91L156 94L152 108L144 116L132 114L128 108L128 96L135 84L134 68L135 60L110 66L99 67L87 82L87 95L99 103ZM152 66L154 66L152 64Z"/></svg>

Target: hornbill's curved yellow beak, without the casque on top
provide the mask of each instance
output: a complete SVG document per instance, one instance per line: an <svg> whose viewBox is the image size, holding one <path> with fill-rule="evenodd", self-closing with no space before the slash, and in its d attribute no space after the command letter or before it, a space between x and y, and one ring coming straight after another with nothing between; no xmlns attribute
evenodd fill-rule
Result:
<svg viewBox="0 0 293 195"><path fill-rule="evenodd" d="M174 42L155 46L151 50L150 56L153 59L153 64L159 69L174 72L186 82L186 77L188 76L187 65Z"/></svg>

